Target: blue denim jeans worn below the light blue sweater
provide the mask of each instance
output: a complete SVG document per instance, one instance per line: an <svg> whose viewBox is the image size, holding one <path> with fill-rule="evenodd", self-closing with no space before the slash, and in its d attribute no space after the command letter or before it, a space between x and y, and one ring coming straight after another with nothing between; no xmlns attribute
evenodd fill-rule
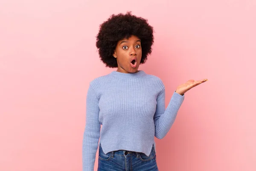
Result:
<svg viewBox="0 0 256 171"><path fill-rule="evenodd" d="M111 151L105 154L99 145L98 171L158 171L154 146L151 153Z"/></svg>

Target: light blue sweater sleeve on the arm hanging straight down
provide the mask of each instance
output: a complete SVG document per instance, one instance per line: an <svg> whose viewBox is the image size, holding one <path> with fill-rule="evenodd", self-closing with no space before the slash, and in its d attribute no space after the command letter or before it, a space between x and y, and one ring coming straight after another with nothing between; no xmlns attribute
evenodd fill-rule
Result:
<svg viewBox="0 0 256 171"><path fill-rule="evenodd" d="M99 100L90 85L86 98L86 124L82 145L83 171L93 171L100 136Z"/></svg>

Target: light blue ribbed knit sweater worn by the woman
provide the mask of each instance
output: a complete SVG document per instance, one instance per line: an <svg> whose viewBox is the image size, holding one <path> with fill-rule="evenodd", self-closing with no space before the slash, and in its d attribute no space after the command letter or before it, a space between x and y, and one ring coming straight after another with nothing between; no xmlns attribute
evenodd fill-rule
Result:
<svg viewBox="0 0 256 171"><path fill-rule="evenodd" d="M105 154L127 150L149 156L154 137L165 137L184 95L173 92L165 109L163 81L143 70L112 71L90 81L82 144L83 171L93 171L98 143ZM102 125L102 126L101 126Z"/></svg>

